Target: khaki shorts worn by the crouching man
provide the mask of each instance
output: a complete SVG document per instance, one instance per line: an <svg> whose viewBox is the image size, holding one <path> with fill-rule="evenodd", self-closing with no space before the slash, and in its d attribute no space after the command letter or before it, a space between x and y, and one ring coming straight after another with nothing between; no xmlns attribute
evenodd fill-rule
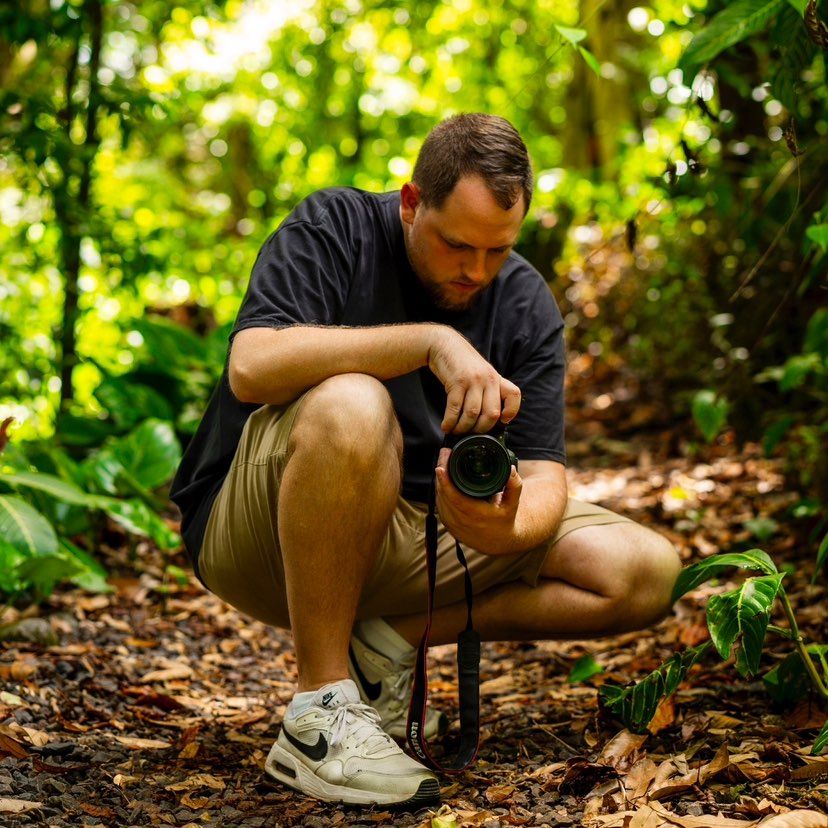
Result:
<svg viewBox="0 0 828 828"><path fill-rule="evenodd" d="M285 570L276 516L288 438L301 407L265 405L245 424L233 464L210 512L199 556L207 587L236 609L279 627L289 627ZM425 612L428 577L425 518L428 507L399 497L376 563L365 584L358 618ZM583 526L630 523L601 506L570 499L556 535L517 555L491 556L464 548L475 593L509 581L538 582L550 549ZM435 607L464 600L464 573L454 538L440 524Z"/></svg>

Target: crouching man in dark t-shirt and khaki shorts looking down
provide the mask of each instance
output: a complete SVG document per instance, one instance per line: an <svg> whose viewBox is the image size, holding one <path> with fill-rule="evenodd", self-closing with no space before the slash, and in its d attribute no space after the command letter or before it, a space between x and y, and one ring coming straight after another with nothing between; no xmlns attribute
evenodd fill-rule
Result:
<svg viewBox="0 0 828 828"><path fill-rule="evenodd" d="M388 736L404 736L425 623L432 485L433 644L465 625L453 538L489 641L651 624L679 571L663 538L567 499L563 325L512 252L532 194L518 133L451 118L412 178L398 193L315 193L267 240L172 492L205 585L293 631L298 688L266 770L329 801L439 795ZM489 500L466 497L443 438L499 422L520 471ZM426 736L443 725L430 711Z"/></svg>

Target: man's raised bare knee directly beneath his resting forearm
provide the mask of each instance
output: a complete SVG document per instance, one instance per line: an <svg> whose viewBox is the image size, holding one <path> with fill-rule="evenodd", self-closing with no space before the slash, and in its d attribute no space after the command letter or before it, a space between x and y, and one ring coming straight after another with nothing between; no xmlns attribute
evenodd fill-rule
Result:
<svg viewBox="0 0 828 828"><path fill-rule="evenodd" d="M350 462L402 462L402 432L385 386L367 374L338 374L307 392L288 454L306 443Z"/></svg>

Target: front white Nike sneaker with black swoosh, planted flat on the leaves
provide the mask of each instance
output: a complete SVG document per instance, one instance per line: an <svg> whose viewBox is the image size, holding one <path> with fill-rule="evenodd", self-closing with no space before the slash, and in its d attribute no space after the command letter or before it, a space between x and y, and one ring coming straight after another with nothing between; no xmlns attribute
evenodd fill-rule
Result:
<svg viewBox="0 0 828 828"><path fill-rule="evenodd" d="M325 802L421 808L440 801L437 777L382 731L350 679L317 690L296 716L288 707L265 771Z"/></svg>

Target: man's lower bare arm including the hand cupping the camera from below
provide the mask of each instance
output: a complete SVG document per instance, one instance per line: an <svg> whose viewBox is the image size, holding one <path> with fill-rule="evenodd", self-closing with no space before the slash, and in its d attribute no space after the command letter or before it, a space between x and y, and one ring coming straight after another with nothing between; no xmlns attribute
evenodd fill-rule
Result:
<svg viewBox="0 0 828 828"><path fill-rule="evenodd" d="M554 460L521 460L504 491L490 500L467 497L448 475L449 449L437 466L440 520L461 543L487 555L512 555L539 546L557 531L566 509L566 476Z"/></svg>

